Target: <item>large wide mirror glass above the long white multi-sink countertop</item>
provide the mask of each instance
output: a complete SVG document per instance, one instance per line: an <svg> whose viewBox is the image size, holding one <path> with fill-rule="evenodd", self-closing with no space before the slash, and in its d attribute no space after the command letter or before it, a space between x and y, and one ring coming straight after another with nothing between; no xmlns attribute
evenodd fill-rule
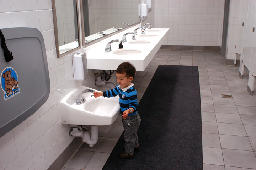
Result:
<svg viewBox="0 0 256 170"><path fill-rule="evenodd" d="M139 4L140 0L81 0L83 46L139 24Z"/></svg>

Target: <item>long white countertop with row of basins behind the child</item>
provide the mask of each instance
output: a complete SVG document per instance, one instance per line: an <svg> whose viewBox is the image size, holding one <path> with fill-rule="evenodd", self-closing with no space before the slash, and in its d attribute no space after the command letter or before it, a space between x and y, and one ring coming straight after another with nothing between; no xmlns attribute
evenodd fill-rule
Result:
<svg viewBox="0 0 256 170"><path fill-rule="evenodd" d="M114 42L111 44L112 51L105 52L108 42L115 39L121 40L124 34L134 32L134 29L138 27L140 27L140 24L84 48L83 52L87 54L88 69L116 70L119 64L128 61L135 66L136 71L144 71L169 35L169 28L151 28L151 31L147 31L148 28L146 28L145 34L141 34L141 29L138 29L138 35L135 35L136 40L148 41L150 43L129 43L135 41L132 40L132 34L129 34L126 36L127 42L123 43L123 49L118 49L119 42ZM130 53L130 55L119 55L129 53L114 54L115 51L117 52L119 50L135 50L141 52L137 54Z"/></svg>

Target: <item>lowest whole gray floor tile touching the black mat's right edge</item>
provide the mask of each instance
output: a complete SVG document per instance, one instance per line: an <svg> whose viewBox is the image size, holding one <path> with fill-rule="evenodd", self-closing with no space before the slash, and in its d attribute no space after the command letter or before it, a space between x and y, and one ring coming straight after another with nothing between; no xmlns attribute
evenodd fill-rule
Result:
<svg viewBox="0 0 256 170"><path fill-rule="evenodd" d="M203 147L203 163L213 165L224 165L222 149Z"/></svg>

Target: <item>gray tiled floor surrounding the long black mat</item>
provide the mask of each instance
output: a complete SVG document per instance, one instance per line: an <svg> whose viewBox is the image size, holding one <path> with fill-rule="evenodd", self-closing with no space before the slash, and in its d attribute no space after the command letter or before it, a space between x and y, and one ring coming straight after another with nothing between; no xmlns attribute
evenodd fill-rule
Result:
<svg viewBox="0 0 256 170"><path fill-rule="evenodd" d="M256 169L256 94L247 92L249 71L245 69L240 79L239 67L225 66L218 52L159 50L133 80L138 100L159 64L198 66L204 170ZM100 126L98 143L94 147L84 143L64 170L101 170L122 131L121 116L113 125Z"/></svg>

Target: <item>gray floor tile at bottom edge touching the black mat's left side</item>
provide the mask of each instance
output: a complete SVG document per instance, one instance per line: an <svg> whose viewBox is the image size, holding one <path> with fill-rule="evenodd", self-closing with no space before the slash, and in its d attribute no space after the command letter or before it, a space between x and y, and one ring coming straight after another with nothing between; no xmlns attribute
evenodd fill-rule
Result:
<svg viewBox="0 0 256 170"><path fill-rule="evenodd" d="M93 155L93 157L91 158L90 162L88 163L85 169L86 170L102 170L109 156L110 156L109 153L95 152L95 154Z"/></svg>

